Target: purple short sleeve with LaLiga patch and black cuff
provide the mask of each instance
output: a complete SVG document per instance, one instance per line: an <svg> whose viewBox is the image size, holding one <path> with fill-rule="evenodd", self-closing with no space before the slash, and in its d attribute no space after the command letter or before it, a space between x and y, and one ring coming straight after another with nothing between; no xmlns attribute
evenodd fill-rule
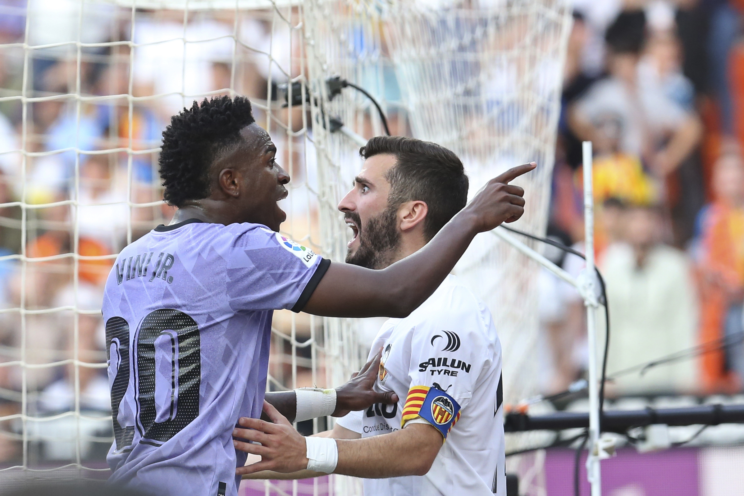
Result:
<svg viewBox="0 0 744 496"><path fill-rule="evenodd" d="M310 248L259 225L234 234L227 253L227 293L240 310L300 312L330 265ZM225 250L225 248L222 248Z"/></svg>

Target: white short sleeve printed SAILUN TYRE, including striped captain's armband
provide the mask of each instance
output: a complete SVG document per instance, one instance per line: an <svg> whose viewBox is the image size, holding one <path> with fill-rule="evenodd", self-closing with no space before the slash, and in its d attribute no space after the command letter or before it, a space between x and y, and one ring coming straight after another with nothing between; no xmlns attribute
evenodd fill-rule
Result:
<svg viewBox="0 0 744 496"><path fill-rule="evenodd" d="M472 294L455 286L451 305L414 329L403 425L422 418L446 439L487 366L489 345L482 311Z"/></svg>

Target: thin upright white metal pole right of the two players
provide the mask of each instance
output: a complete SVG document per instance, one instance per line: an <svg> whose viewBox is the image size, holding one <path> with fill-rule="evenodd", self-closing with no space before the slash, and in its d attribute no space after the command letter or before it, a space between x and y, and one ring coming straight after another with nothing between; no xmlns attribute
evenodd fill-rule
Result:
<svg viewBox="0 0 744 496"><path fill-rule="evenodd" d="M584 249L586 255L586 273L594 281L594 193L591 178L591 141L584 141L583 175L584 175ZM586 458L586 475L591 484L591 496L602 496L602 478L600 475L599 437L599 376L597 367L597 307L585 298L586 332L589 344L589 455Z"/></svg>

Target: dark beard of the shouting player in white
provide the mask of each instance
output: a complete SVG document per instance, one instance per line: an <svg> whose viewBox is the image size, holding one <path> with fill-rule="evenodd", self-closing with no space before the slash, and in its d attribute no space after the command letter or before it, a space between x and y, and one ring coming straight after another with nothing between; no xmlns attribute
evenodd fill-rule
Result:
<svg viewBox="0 0 744 496"><path fill-rule="evenodd" d="M356 212L347 212L344 216L356 222L359 233L359 248L354 253L349 250L346 263L360 267L380 269L389 265L392 255L400 245L400 233L397 227L398 208L388 206L367 222L362 229L362 219Z"/></svg>

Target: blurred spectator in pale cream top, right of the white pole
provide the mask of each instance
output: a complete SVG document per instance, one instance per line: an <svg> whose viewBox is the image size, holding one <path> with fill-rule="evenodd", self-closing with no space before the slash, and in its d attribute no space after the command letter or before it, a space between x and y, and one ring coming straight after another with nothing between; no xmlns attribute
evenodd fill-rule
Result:
<svg viewBox="0 0 744 496"><path fill-rule="evenodd" d="M623 213L624 242L607 248L602 271L610 316L608 376L693 347L697 322L695 286L681 251L661 242L658 207ZM620 393L689 392L696 373L689 363L664 364L615 381Z"/></svg>

